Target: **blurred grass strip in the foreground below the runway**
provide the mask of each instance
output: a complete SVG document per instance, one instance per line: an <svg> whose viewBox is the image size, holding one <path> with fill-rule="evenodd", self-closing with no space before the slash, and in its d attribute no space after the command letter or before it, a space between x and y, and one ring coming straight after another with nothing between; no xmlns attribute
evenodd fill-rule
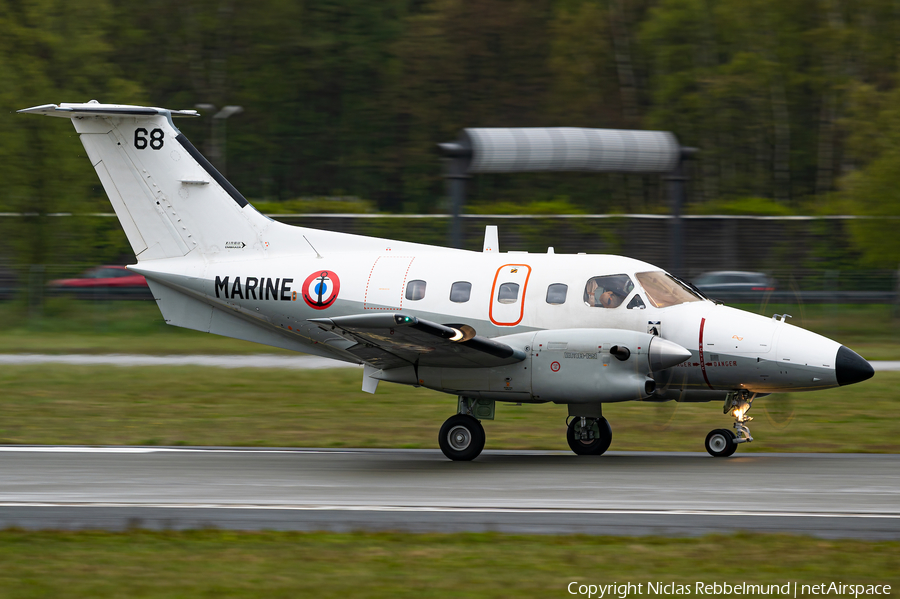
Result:
<svg viewBox="0 0 900 599"><path fill-rule="evenodd" d="M571 597L573 581L641 583L645 591L647 581L674 582L692 595L698 581L900 587L900 543L749 534L6 531L0 564L0 598L17 599Z"/></svg>

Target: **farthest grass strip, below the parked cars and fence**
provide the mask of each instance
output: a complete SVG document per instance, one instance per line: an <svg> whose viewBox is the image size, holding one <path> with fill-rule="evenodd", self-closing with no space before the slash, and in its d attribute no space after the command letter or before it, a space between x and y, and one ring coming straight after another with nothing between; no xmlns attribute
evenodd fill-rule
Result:
<svg viewBox="0 0 900 599"><path fill-rule="evenodd" d="M821 333L870 360L900 360L900 317L885 305L744 305L771 316L793 314L792 324ZM224 354L282 353L246 341L179 329L163 321L152 301L53 298L38 314L19 302L0 302L0 352Z"/></svg>

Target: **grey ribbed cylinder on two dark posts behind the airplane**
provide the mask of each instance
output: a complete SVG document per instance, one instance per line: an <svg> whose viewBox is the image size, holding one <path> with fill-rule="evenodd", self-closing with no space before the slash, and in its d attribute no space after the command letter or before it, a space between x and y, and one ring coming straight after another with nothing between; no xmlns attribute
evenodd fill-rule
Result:
<svg viewBox="0 0 900 599"><path fill-rule="evenodd" d="M694 148L682 147L668 131L584 129L578 127L469 128L453 142L438 144L453 212L451 244L462 247L460 214L466 180L478 173L589 171L665 176L672 212L673 271L680 271L684 247L681 210L687 176L684 160Z"/></svg>

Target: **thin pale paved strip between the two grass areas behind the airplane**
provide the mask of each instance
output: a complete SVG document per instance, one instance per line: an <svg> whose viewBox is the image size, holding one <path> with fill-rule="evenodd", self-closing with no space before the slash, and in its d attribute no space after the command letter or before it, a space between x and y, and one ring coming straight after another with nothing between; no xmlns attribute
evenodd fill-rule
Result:
<svg viewBox="0 0 900 599"><path fill-rule="evenodd" d="M869 362L876 371L900 370L900 361ZM213 366L217 368L278 368L319 370L360 368L357 364L298 354L171 355L143 354L0 354L0 365L69 364L75 366Z"/></svg>

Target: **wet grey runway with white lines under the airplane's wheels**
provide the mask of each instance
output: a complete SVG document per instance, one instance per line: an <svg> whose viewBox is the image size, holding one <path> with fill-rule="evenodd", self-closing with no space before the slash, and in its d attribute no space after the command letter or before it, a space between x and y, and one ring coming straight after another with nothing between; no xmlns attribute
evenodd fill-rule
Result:
<svg viewBox="0 0 900 599"><path fill-rule="evenodd" d="M0 527L900 538L900 456L0 447Z"/></svg>

